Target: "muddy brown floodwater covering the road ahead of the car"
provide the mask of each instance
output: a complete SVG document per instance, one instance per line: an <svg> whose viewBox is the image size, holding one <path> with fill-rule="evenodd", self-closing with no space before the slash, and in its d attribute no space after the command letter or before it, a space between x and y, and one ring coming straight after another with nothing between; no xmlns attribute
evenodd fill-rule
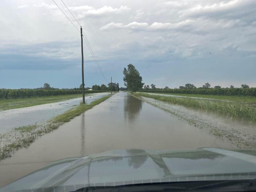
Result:
<svg viewBox="0 0 256 192"><path fill-rule="evenodd" d="M0 187L63 158L114 149L185 150L236 146L127 93L106 101L0 161Z"/></svg>

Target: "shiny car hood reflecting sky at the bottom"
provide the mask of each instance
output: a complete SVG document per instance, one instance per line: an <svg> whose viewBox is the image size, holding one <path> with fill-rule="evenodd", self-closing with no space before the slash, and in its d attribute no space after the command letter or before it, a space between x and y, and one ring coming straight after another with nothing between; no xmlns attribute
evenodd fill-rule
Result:
<svg viewBox="0 0 256 192"><path fill-rule="evenodd" d="M112 150L56 161L0 192L42 188L74 191L86 186L255 178L256 151L251 150Z"/></svg>

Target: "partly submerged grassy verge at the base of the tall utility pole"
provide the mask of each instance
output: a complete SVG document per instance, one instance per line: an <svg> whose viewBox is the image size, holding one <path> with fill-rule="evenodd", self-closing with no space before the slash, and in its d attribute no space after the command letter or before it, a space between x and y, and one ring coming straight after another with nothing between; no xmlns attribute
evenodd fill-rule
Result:
<svg viewBox="0 0 256 192"><path fill-rule="evenodd" d="M46 124L35 123L28 126L21 126L14 128L11 133L4 135L0 134L0 160L11 157L11 155L18 149L29 146L38 137L52 132L60 125L81 115L85 111L92 109L94 106L100 104L113 95L114 94L110 94L108 96L101 97L92 101L90 104L81 103L77 107L49 119Z"/></svg>

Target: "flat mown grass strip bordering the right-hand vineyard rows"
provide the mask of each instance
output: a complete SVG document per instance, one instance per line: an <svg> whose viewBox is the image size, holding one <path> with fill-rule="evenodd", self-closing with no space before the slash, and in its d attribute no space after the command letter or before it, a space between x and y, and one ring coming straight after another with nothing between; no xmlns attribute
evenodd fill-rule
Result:
<svg viewBox="0 0 256 192"><path fill-rule="evenodd" d="M220 100L228 100L228 101L256 103L256 97L246 97L246 96L239 97L239 96L179 94L179 93L154 93L154 94L177 95L177 96L187 96L187 97L201 97L201 98L209 98L209 99L220 99Z"/></svg>

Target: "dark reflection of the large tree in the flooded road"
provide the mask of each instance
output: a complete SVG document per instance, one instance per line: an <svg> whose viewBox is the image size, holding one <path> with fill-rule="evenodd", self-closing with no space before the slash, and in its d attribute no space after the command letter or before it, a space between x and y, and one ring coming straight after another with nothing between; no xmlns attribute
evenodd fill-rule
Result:
<svg viewBox="0 0 256 192"><path fill-rule="evenodd" d="M134 122L141 109L142 101L127 94L126 99L124 99L124 118L128 118L129 122Z"/></svg>

